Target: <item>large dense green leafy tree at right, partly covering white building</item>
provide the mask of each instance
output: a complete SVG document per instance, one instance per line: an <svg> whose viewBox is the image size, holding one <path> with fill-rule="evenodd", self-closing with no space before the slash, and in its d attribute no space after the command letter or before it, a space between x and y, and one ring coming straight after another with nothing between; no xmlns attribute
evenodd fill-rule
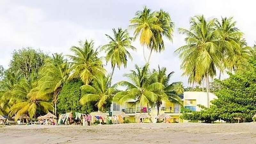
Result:
<svg viewBox="0 0 256 144"><path fill-rule="evenodd" d="M251 61L251 69L228 74L230 77L226 80L215 80L221 88L215 92L218 99L211 101L210 108L184 113L183 118L206 123L219 119L236 122L236 118L251 122L256 114L256 60Z"/></svg>

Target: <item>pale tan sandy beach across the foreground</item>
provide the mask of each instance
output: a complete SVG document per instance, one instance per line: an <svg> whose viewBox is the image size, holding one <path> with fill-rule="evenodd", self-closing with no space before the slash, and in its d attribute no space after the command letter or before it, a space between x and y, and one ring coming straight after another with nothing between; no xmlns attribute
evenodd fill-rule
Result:
<svg viewBox="0 0 256 144"><path fill-rule="evenodd" d="M14 125L0 128L0 143L256 144L256 123Z"/></svg>

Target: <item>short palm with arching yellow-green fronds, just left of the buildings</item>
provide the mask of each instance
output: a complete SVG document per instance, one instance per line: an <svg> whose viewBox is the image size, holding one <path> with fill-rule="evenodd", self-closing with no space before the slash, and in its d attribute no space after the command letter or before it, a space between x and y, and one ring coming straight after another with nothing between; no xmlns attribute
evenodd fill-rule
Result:
<svg viewBox="0 0 256 144"><path fill-rule="evenodd" d="M85 94L82 95L80 103L84 105L91 101L97 101L97 107L102 111L104 111L104 108L109 107L108 105L115 92L115 89L110 87L109 76L106 77L104 75L94 76L92 85L83 85L81 89Z"/></svg>

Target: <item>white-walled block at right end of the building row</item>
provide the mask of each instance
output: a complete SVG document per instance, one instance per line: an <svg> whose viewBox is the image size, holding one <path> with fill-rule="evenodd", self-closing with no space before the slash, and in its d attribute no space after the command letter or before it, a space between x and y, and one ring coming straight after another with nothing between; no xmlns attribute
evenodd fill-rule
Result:
<svg viewBox="0 0 256 144"><path fill-rule="evenodd" d="M217 99L213 93L209 93L210 105L213 99ZM190 109L192 111L200 111L198 105L203 105L207 107L207 92L184 92L183 95L183 106L184 108Z"/></svg>

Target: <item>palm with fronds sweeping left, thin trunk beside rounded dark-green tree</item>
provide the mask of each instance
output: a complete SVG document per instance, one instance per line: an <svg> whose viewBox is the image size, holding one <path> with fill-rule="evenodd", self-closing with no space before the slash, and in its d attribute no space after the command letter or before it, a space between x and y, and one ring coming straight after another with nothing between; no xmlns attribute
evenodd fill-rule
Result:
<svg viewBox="0 0 256 144"><path fill-rule="evenodd" d="M62 86L68 80L70 73L69 64L62 54L53 55L52 60L46 60L40 74L39 91L42 95L52 94L54 104L54 114L57 115L58 95Z"/></svg>

